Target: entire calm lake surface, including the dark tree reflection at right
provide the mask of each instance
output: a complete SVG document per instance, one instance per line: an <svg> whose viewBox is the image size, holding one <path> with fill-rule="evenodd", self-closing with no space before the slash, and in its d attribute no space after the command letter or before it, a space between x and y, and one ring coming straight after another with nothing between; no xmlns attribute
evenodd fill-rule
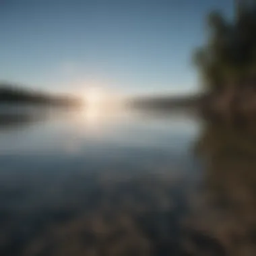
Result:
<svg viewBox="0 0 256 256"><path fill-rule="evenodd" d="M249 133L185 112L8 120L0 255L255 255Z"/></svg>

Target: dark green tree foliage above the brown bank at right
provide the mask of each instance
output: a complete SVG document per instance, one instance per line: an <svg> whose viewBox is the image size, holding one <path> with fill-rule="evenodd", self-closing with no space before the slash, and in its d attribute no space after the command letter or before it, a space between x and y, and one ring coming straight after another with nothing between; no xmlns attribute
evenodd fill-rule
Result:
<svg viewBox="0 0 256 256"><path fill-rule="evenodd" d="M208 38L197 49L193 62L211 90L238 85L256 73L256 3L228 20L218 11L207 17Z"/></svg>

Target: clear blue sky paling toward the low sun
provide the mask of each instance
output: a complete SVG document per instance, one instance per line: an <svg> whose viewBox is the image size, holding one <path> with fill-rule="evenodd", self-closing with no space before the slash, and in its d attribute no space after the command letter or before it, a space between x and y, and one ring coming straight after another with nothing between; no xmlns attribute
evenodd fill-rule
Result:
<svg viewBox="0 0 256 256"><path fill-rule="evenodd" d="M0 0L0 79L43 90L197 90L191 53L232 0Z"/></svg>

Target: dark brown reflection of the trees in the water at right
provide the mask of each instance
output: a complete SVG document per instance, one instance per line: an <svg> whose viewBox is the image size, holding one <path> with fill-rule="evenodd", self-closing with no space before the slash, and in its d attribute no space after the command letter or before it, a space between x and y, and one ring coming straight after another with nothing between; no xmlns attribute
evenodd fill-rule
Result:
<svg viewBox="0 0 256 256"><path fill-rule="evenodd" d="M256 133L207 125L196 152L205 160L205 183L195 196L193 224L215 236L228 255L256 255Z"/></svg>

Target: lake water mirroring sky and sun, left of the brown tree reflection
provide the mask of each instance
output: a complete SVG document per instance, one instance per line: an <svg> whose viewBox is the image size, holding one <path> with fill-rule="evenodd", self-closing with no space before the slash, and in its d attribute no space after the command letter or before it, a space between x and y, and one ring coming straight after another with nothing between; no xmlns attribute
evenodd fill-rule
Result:
<svg viewBox="0 0 256 256"><path fill-rule="evenodd" d="M105 255L131 247L135 255L184 255L185 234L223 255L188 218L192 203L204 220L191 150L199 122L184 113L87 114L0 130L0 254L92 255L84 250L103 241Z"/></svg>

